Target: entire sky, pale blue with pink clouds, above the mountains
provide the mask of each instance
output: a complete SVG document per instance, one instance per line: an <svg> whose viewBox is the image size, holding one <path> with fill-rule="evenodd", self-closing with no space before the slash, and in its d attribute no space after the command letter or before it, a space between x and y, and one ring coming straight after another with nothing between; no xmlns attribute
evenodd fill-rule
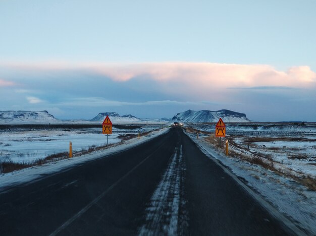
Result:
<svg viewBox="0 0 316 236"><path fill-rule="evenodd" d="M316 122L316 1L0 0L0 110Z"/></svg>

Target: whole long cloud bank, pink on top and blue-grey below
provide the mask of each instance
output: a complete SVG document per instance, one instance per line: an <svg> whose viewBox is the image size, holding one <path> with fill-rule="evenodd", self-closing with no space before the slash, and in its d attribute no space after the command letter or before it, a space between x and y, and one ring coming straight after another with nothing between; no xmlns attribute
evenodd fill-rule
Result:
<svg viewBox="0 0 316 236"><path fill-rule="evenodd" d="M269 65L186 62L0 63L0 78L4 77L18 85L2 89L6 107L57 107L78 117L86 116L87 110L159 117L179 109L226 108L253 115L252 120L269 117L267 110L286 120L290 111L294 117L296 109L314 107L316 98L316 74L308 66L282 71ZM302 110L315 117L314 109Z"/></svg>

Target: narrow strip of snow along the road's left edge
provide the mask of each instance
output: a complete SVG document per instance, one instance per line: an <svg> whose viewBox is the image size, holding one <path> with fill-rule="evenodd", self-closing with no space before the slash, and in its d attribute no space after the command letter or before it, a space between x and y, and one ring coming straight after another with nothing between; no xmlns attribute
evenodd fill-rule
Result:
<svg viewBox="0 0 316 236"><path fill-rule="evenodd" d="M40 166L33 166L30 168L17 170L10 173L0 174L0 191L4 190L5 187L7 186L10 186L10 188L12 188L15 185L20 185L20 184L27 183L30 181L34 182L36 180L40 180L40 178L42 178L44 174L46 175L46 174L63 171L67 167L75 166L77 164L81 164L93 159L104 158L106 156L135 147L159 135L165 134L168 131L169 131L168 128L161 129L159 131L153 131L149 135L143 136L140 139L133 138L124 142L124 144L122 145L111 147L109 149L95 151L93 153L82 155L80 157L63 159L56 162L46 163Z"/></svg>

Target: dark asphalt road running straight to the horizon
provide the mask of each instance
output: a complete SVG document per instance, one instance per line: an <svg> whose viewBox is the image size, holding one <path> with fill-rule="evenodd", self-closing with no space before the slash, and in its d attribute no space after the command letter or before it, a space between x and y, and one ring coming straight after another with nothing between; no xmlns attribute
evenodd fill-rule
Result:
<svg viewBox="0 0 316 236"><path fill-rule="evenodd" d="M0 235L289 234L282 225L181 128L0 193Z"/></svg>

